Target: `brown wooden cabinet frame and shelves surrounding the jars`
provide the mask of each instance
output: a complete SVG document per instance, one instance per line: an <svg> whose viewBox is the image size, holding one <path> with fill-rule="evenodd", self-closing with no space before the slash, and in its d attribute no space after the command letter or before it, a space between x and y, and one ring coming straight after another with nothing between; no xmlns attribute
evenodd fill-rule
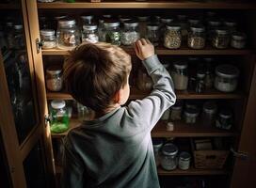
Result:
<svg viewBox="0 0 256 188"><path fill-rule="evenodd" d="M49 174L50 183L51 176L56 176L61 171L61 167L54 165L53 161L56 161L57 157L54 157L53 153L56 153L55 145L57 142L61 142L63 136L67 133L50 133L49 124L44 124L44 117L47 116L48 107L47 102L55 99L72 100L72 96L62 92L50 92L45 88L45 67L51 63L58 61L60 64L63 63L64 56L67 55L68 51L65 50L38 50L36 44L37 39L40 39L40 15L58 15L68 14L76 18L82 13L89 13L95 15L101 15L103 13L111 14L149 14L149 15L175 15L180 12L183 13L203 13L206 11L216 11L221 15L233 16L237 19L243 30L248 33L248 48L243 50L235 50L228 48L225 50L216 50L208 45L202 50L191 50L186 45L178 50L168 50L162 46L156 47L156 54L163 58L171 59L172 57L187 57L187 56L200 56L200 57L214 57L226 61L227 59L232 60L233 64L241 71L241 81L239 87L235 92L223 93L216 89L206 90L204 93L196 93L193 91L177 91L177 98L181 100L215 100L221 102L223 106L229 105L232 107L235 114L235 123L231 131L219 130L214 127L205 127L200 122L195 126L184 124L183 121L175 124L175 130L173 132L166 131L166 121L159 121L152 131L152 137L178 137L178 138L190 138L190 137L223 137L225 140L229 140L232 143L232 148L240 153L236 153L238 159L230 154L229 162L227 167L223 169L197 169L191 166L189 170L174 170L165 171L161 168L158 170L159 176L173 179L178 176L189 176L189 177L219 177L221 180L226 180L227 186L225 187L241 187L243 185L243 179L241 177L252 177L252 172L255 172L255 149L253 146L253 140L255 141L255 80L256 80L256 69L255 69L255 47L256 47L256 27L253 26L252 19L256 17L256 5L252 3L243 3L236 1L231 2L178 2L178 1L147 1L147 2L135 2L135 1L104 1L101 3L89 3L79 1L77 3L37 3L36 0L23 0L23 14L24 14L24 31L26 39L26 51L29 62L29 71L32 79L32 90L35 100L35 108L39 112L40 124L38 129L34 128L35 131L31 131L31 139L33 137L33 144L29 141L24 143L24 147L19 148L19 142L16 139L9 138L9 135L17 133L13 129L15 122L13 122L13 113L11 111L11 102L8 94L8 83L5 75L4 60L1 59L1 89L0 99L1 103L5 103L2 106L8 106L7 108L1 107L1 133L2 139L4 140L4 148L7 153L9 172L14 187L18 187L21 180L23 185L25 184L24 172L22 172L22 160L18 159L19 153L23 153L23 160L28 154L28 150L33 150L36 143L42 143L44 150L44 164L45 172ZM0 4L1 10L16 11L18 6ZM131 12L133 10L133 12ZM130 55L135 56L135 52L131 48L124 48L124 50ZM2 57L3 58L3 57ZM221 62L220 62L221 63ZM136 63L135 63L136 64ZM3 86L3 89L2 89ZM142 99L145 97L147 92L141 92L132 86L130 100ZM3 112L3 113L2 113ZM6 115L3 117L2 115ZM12 116L10 116L12 115ZM77 118L72 118L71 128L79 125ZM12 128L11 128L12 127ZM11 128L11 129L10 129ZM38 131L37 131L38 130ZM254 131L254 132L253 132ZM35 135L34 135L35 134ZM16 135L14 137L17 137ZM8 146L15 146L13 149L9 149ZM54 146L54 150L52 147ZM25 149L25 151L23 151ZM25 154L24 154L25 152ZM244 157L242 154L248 155ZM239 155L240 154L240 155ZM13 157L15 156L15 157ZM243 159L241 159L241 156ZM239 158L240 157L240 158ZM56 163L57 164L57 163ZM11 172L12 166L17 165L21 169L21 173ZM248 173L249 172L249 173ZM244 174L245 176L242 176ZM48 178L49 178L48 177ZM245 179L245 178L244 178ZM252 178L248 178L247 187L253 187ZM26 182L27 183L27 182ZM238 186L239 185L239 186ZM25 186L23 186L25 187Z"/></svg>

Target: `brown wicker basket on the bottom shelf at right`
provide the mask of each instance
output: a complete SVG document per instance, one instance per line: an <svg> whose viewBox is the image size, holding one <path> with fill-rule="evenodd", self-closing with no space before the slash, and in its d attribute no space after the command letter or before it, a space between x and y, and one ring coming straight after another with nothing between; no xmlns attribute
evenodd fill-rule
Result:
<svg viewBox="0 0 256 188"><path fill-rule="evenodd" d="M200 169L220 169L223 168L229 150L195 150L193 141L191 140L192 152L194 155L194 164Z"/></svg>

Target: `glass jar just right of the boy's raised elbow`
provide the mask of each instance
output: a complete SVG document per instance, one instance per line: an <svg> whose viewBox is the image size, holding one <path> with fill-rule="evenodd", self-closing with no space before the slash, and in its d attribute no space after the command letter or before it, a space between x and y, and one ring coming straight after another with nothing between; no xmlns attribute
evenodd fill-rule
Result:
<svg viewBox="0 0 256 188"><path fill-rule="evenodd" d="M186 90L188 84L187 63L173 63L173 69L170 74L174 83L174 88L177 90Z"/></svg>

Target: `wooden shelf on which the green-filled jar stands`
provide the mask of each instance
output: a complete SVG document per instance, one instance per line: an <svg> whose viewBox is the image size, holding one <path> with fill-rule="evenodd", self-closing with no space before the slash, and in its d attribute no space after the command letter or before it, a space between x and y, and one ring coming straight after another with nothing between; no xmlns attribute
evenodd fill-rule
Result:
<svg viewBox="0 0 256 188"><path fill-rule="evenodd" d="M219 130L214 127L202 126L200 124L188 125L182 121L174 123L174 131L166 131L166 121L159 121L152 130L152 137L234 137L239 135L234 131ZM81 124L77 118L72 118L70 122L70 130ZM61 138L67 133L52 133L53 138Z"/></svg>

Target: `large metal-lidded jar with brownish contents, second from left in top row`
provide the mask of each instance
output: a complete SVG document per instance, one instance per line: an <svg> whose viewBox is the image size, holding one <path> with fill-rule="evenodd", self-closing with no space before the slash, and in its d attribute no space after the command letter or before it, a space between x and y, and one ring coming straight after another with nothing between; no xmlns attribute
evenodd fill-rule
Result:
<svg viewBox="0 0 256 188"><path fill-rule="evenodd" d="M56 46L59 49L72 50L80 44L80 33L73 19L58 20Z"/></svg>

